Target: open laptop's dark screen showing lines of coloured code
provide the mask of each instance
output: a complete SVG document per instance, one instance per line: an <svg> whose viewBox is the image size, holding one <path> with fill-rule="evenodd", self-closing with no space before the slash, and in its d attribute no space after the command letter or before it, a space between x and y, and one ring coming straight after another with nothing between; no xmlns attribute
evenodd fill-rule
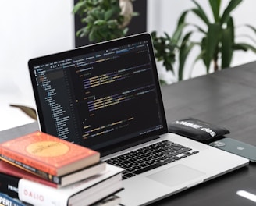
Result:
<svg viewBox="0 0 256 206"><path fill-rule="evenodd" d="M167 130L149 34L30 59L41 130L101 151Z"/></svg>

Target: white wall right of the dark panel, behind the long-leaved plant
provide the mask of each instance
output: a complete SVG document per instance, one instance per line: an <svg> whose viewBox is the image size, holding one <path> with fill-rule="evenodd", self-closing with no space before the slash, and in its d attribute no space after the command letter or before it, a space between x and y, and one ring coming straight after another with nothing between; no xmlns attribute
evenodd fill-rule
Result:
<svg viewBox="0 0 256 206"><path fill-rule="evenodd" d="M211 13L208 1L197 0L197 2L205 9L208 9L208 13ZM222 2L222 8L224 8L229 1L223 0ZM256 27L256 12L254 11L255 6L256 2L254 0L244 0L240 5L238 5L236 10L234 10L232 13L235 25L249 23ZM194 7L194 3L190 0L148 0L148 31L151 32L153 30L157 30L158 34L167 32L168 34L172 35L181 12L192 7ZM198 19L195 16L190 15L190 22L198 23ZM247 31L244 29L239 29L237 30L237 34L247 34ZM256 37L256 34L251 35ZM247 39L240 37L240 41L244 42L247 41ZM197 49L195 49L193 52L194 54L198 54ZM190 67L194 62L194 57L195 55L190 55L187 61L187 65L185 67L187 71L187 73L185 73L185 79L189 78L190 76L189 71L191 70ZM231 66L237 66L255 60L256 55L253 52L235 52ZM172 82L172 73L165 73L165 69L162 67L161 63L158 63L158 69L162 71L160 72L162 79L166 78L165 80ZM204 65L201 62L197 62L191 76L200 76L202 74L205 74Z"/></svg>

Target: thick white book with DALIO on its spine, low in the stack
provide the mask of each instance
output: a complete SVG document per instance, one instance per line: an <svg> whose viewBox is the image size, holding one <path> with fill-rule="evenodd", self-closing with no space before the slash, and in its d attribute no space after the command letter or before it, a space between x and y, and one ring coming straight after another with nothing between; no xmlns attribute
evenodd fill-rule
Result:
<svg viewBox="0 0 256 206"><path fill-rule="evenodd" d="M88 205L121 190L123 169L107 164L104 172L59 189L21 179L18 185L20 201L34 205Z"/></svg>

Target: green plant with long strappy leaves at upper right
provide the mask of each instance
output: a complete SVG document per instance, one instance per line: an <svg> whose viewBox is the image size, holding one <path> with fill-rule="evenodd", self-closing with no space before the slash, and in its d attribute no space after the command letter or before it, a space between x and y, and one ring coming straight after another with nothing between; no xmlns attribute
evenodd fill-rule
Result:
<svg viewBox="0 0 256 206"><path fill-rule="evenodd" d="M221 12L222 0L208 0L212 16L207 16L203 7L195 0L192 0L192 2L194 2L195 7L181 14L176 27L176 31L179 28L182 29L182 34L176 39L176 48L178 51L174 52L175 55L179 56L179 80L183 79L183 66L187 60L186 57L195 46L200 48L200 52L196 56L194 63L202 60L206 68L206 73L209 73L212 62L214 71L229 67L233 58L233 52L236 50L251 50L256 52L253 44L236 42L237 27L234 25L231 12L240 5L242 0L230 0L223 12ZM203 25L187 21L188 13L197 16ZM211 22L210 17L213 17L213 22ZM249 28L254 34L256 33L255 28L251 25L244 24L243 27ZM194 41L193 34L201 35L199 41ZM245 35L245 37L250 41L254 41L251 36ZM162 41L169 41L169 38L164 37ZM164 57L165 52L161 52L158 55ZM164 62L164 65L167 63L170 64L170 62Z"/></svg>

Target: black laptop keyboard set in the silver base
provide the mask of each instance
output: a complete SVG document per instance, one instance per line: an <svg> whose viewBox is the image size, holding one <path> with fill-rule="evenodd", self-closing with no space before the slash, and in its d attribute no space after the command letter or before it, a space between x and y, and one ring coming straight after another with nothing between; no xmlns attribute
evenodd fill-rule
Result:
<svg viewBox="0 0 256 206"><path fill-rule="evenodd" d="M189 147L163 140L136 151L110 158L105 162L125 169L123 179L127 179L197 153L198 151L194 151Z"/></svg>

